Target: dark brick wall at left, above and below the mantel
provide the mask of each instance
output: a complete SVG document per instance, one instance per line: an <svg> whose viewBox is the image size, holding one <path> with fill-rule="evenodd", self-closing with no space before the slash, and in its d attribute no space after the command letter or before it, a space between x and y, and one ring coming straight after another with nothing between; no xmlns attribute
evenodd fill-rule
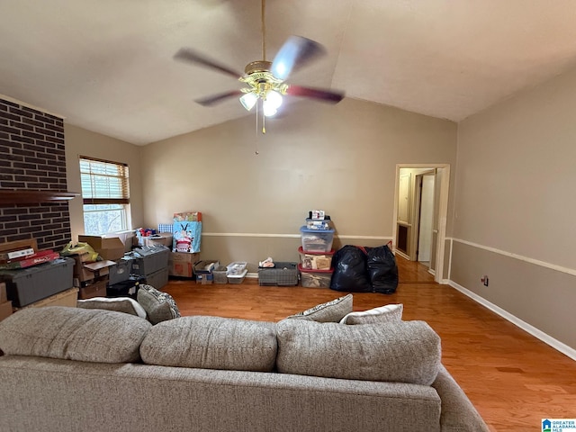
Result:
<svg viewBox="0 0 576 432"><path fill-rule="evenodd" d="M0 189L67 191L62 119L0 98ZM60 250L70 236L67 202L0 206L0 242Z"/></svg>

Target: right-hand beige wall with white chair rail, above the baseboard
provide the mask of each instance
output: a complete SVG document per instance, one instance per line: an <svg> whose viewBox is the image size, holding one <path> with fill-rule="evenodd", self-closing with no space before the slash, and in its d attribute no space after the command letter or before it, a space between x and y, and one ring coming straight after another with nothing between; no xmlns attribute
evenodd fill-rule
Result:
<svg viewBox="0 0 576 432"><path fill-rule="evenodd" d="M576 70L459 124L451 279L576 349L573 88Z"/></svg>

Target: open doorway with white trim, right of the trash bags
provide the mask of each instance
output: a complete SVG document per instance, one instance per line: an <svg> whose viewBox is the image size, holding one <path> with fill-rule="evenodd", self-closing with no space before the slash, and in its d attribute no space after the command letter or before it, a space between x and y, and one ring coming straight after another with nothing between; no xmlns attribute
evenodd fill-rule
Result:
<svg viewBox="0 0 576 432"><path fill-rule="evenodd" d="M428 267L442 283L445 269L446 220L450 166L399 164L392 244L394 252Z"/></svg>

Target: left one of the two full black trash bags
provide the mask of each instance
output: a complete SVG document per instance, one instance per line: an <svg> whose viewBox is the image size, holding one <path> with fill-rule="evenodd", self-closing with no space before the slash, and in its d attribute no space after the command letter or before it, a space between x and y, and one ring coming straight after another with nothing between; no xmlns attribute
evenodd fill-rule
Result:
<svg viewBox="0 0 576 432"><path fill-rule="evenodd" d="M334 273L330 289L348 293L372 293L372 285L366 271L366 254L360 248L347 245L332 257Z"/></svg>

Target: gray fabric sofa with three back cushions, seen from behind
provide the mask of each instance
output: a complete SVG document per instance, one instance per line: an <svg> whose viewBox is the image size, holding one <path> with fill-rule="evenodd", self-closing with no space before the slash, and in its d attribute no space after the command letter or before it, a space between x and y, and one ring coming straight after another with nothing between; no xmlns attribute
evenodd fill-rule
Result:
<svg viewBox="0 0 576 432"><path fill-rule="evenodd" d="M318 322L321 309L156 325L119 311L18 311L0 322L0 430L488 430L427 323Z"/></svg>

